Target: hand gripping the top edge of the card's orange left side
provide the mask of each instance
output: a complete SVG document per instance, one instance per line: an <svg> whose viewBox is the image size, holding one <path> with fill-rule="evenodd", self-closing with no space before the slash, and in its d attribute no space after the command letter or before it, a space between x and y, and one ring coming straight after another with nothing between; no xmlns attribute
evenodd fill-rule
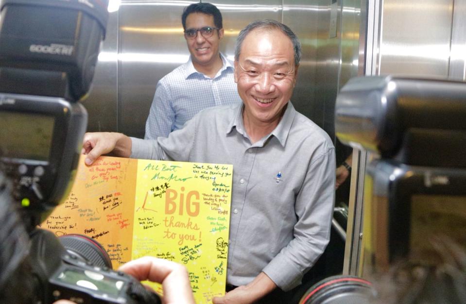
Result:
<svg viewBox="0 0 466 304"><path fill-rule="evenodd" d="M95 132L84 135L83 149L86 154L85 163L91 165L99 156L112 152L114 156L129 157L131 155L131 138L121 133Z"/></svg>

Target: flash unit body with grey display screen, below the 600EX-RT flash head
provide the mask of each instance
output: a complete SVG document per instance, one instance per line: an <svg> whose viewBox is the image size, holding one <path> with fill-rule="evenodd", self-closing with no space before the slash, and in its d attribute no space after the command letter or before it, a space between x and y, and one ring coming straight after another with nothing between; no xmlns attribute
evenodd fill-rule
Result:
<svg viewBox="0 0 466 304"><path fill-rule="evenodd" d="M63 98L0 93L1 159L35 227L72 186L87 112Z"/></svg>

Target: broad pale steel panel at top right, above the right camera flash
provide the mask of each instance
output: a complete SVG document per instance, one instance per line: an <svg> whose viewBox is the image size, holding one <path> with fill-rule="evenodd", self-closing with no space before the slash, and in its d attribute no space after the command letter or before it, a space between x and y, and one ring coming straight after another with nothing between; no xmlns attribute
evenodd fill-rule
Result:
<svg viewBox="0 0 466 304"><path fill-rule="evenodd" d="M385 0L380 74L447 77L453 0Z"/></svg>

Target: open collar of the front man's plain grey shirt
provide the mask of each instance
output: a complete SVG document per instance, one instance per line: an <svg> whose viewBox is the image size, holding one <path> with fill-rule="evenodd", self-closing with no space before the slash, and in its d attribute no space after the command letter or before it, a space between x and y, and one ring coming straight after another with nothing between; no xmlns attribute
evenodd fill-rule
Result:
<svg viewBox="0 0 466 304"><path fill-rule="evenodd" d="M234 115L233 119L231 120L230 124L228 125L228 129L226 130L226 134L229 134L233 131L233 128L236 127L236 131L243 136L245 135L245 130L244 130L244 122L242 120L242 111L244 108L244 104L240 103L235 111L236 114ZM284 147L286 143L286 139L288 138L288 135L290 134L290 129L293 124L294 117L296 115L296 110L293 107L293 104L291 101L288 101L285 113L283 114L282 118L280 119L280 122L278 122L278 125L270 133L268 136L266 136L263 139L263 142L265 143L270 136L274 135L280 144Z"/></svg>

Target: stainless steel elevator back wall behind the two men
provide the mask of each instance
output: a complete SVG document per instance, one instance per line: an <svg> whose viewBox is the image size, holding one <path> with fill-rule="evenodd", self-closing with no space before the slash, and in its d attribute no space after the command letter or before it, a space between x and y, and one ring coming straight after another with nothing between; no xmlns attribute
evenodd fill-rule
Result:
<svg viewBox="0 0 466 304"><path fill-rule="evenodd" d="M88 131L144 136L157 81L188 60L181 14L192 2L122 0L119 10L110 13L93 87L83 102L89 113ZM349 77L357 74L360 5L357 0L336 1L333 4L336 10L331 15L332 2L218 0L212 3L224 18L221 51L229 58L233 58L239 31L253 20L275 19L298 35L303 56L293 104L333 137L336 92ZM336 35L331 38L330 15L336 22Z"/></svg>

